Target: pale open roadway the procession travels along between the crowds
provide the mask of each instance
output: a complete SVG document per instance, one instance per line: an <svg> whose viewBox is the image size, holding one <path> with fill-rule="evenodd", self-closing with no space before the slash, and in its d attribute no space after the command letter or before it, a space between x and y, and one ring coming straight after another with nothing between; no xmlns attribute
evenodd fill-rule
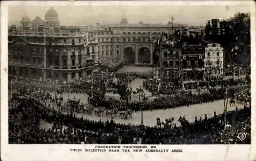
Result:
<svg viewBox="0 0 256 161"><path fill-rule="evenodd" d="M135 90L136 88L139 88L140 86L142 87L142 82L145 81L145 79L135 79L134 81L131 82L131 87ZM145 91L145 90L144 90ZM52 93L54 94L54 93ZM145 94L151 95L150 92L145 91ZM76 99L80 98L80 101L84 104L87 104L88 102L88 95L87 94L81 94L81 93L73 93L73 94L67 94L64 93L62 94L63 96L63 102L67 102L68 97L69 98L74 98ZM132 99L138 99L136 97ZM243 108L242 104L236 104L238 108ZM56 106L55 106L56 108ZM236 109L236 106L229 106L228 103L228 111L232 111ZM194 122L195 121L195 116L199 119L202 117L204 119L205 114L207 115L208 118L214 116L214 111L216 112L217 115L222 114L224 110L224 100L218 100L214 102L208 102L208 103L202 103L202 104L194 104L190 106L182 106L179 108L175 109L166 109L166 110L153 110L153 111L143 111L143 124L148 125L148 126L155 126L156 125L156 118L159 116L161 121L164 121L166 118L171 118L174 116L175 120L177 121L180 116L185 115L186 119L189 122ZM101 121L107 121L110 120L110 116L95 116L94 114L92 116L89 116L87 114L82 114L82 113L76 113L77 117L82 117L87 118L90 120L101 120ZM122 123L122 124L140 124L141 123L141 112L136 112L133 114L133 118L131 119L121 119L119 116L116 116L114 118L116 123ZM180 126L180 123L177 122L177 126Z"/></svg>

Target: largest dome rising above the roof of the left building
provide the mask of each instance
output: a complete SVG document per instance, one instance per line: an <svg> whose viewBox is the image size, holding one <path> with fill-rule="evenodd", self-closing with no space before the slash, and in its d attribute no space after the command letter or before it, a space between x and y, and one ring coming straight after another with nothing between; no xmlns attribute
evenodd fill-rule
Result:
<svg viewBox="0 0 256 161"><path fill-rule="evenodd" d="M59 27L58 13L51 7L45 15L45 26L46 27Z"/></svg>

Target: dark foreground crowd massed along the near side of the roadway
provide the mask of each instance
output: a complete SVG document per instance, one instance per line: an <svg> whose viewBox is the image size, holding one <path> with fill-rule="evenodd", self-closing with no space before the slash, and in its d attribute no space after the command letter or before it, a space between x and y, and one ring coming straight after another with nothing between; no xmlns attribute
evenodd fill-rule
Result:
<svg viewBox="0 0 256 161"><path fill-rule="evenodd" d="M193 123L180 118L181 127L149 127L65 115L32 98L18 102L9 110L10 144L250 144L250 107L246 106L227 113L228 126L221 114ZM40 128L42 120L53 126ZM238 138L239 133L246 134L245 140Z"/></svg>

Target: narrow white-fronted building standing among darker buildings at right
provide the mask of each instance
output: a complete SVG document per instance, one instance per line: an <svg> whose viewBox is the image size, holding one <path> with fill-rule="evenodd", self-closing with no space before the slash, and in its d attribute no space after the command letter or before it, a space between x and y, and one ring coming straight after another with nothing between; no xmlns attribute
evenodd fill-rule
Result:
<svg viewBox="0 0 256 161"><path fill-rule="evenodd" d="M207 44L205 47L205 75L223 76L223 51L220 44Z"/></svg>

